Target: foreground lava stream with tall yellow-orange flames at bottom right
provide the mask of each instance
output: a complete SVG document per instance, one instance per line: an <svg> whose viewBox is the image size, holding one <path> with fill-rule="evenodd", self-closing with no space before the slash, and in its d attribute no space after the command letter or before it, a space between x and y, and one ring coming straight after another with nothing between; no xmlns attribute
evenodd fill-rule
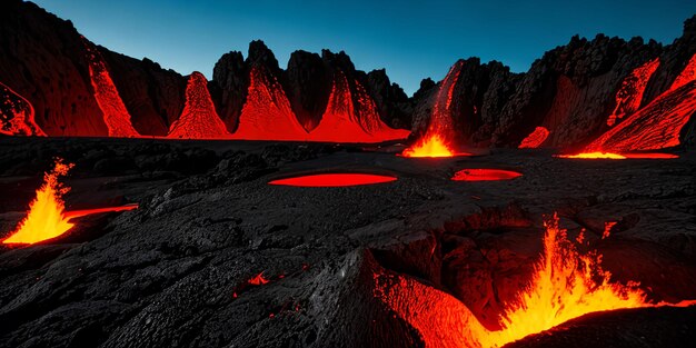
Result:
<svg viewBox="0 0 696 348"><path fill-rule="evenodd" d="M648 302L636 282L610 282L601 256L580 253L556 216L545 226L543 255L528 286L500 314L499 330L486 328L453 296L408 276L376 274L375 296L418 330L426 347L503 347L590 312L668 306Z"/></svg>

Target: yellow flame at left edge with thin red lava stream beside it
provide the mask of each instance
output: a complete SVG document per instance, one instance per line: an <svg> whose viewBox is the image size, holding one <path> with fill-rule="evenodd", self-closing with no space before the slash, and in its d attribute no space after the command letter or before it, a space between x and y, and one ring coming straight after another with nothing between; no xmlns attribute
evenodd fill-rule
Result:
<svg viewBox="0 0 696 348"><path fill-rule="evenodd" d="M29 205L29 213L19 222L17 229L4 239L3 243L36 243L63 235L70 230L74 223L70 220L92 213L125 211L137 209L138 205L123 207L98 208L87 210L64 211L66 205L62 196L70 188L58 181L60 177L68 175L73 167L71 163L63 163L56 160L53 170L46 172L43 185L37 190L37 197Z"/></svg>

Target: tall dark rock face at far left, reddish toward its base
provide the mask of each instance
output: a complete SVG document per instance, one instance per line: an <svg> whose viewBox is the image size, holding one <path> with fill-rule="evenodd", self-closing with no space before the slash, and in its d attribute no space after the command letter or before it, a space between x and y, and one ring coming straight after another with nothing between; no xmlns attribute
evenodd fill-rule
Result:
<svg viewBox="0 0 696 348"><path fill-rule="evenodd" d="M33 106L49 136L108 132L80 34L31 2L0 2L0 81Z"/></svg>

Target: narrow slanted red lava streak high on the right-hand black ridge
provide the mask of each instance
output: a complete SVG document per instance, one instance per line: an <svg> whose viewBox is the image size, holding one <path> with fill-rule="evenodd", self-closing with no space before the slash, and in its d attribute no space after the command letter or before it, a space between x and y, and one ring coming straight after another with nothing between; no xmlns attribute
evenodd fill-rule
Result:
<svg viewBox="0 0 696 348"><path fill-rule="evenodd" d="M636 68L622 82L622 87L616 92L616 108L607 119L607 126L614 126L617 119L632 115L640 108L643 93L655 70L659 67L659 59L654 60Z"/></svg>

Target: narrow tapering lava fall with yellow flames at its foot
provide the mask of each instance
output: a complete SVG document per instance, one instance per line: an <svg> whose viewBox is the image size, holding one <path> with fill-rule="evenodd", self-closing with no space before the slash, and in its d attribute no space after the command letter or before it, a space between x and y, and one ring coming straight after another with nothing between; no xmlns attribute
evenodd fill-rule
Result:
<svg viewBox="0 0 696 348"><path fill-rule="evenodd" d="M451 143L455 139L455 129L451 120L451 102L455 87L461 73L463 61L454 64L440 83L435 96L435 105L430 115L428 129L421 139L404 150L404 157L454 157Z"/></svg>

